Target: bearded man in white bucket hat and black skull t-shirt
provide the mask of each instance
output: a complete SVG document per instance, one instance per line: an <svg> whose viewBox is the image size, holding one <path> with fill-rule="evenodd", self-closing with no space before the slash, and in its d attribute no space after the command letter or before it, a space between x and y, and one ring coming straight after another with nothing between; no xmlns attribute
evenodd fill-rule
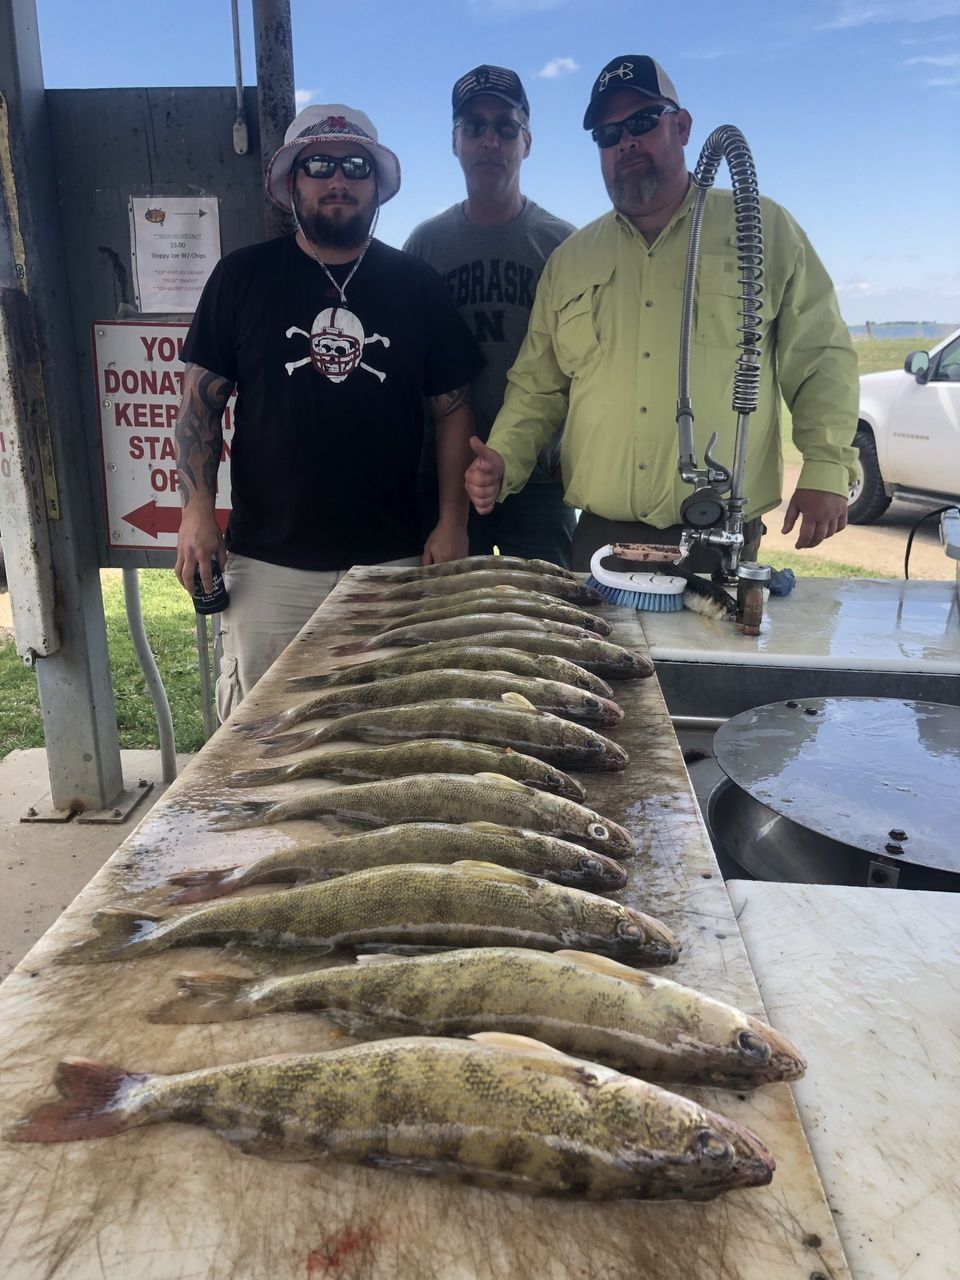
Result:
<svg viewBox="0 0 960 1280"><path fill-rule="evenodd" d="M372 238L399 189L397 156L367 116L308 106L270 161L266 191L294 236L214 269L183 348L177 424L183 516L177 576L225 562L221 719L352 564L433 563L467 550L466 385L483 356L443 282ZM214 520L221 419L238 399L227 540ZM439 512L417 502L426 397Z"/></svg>

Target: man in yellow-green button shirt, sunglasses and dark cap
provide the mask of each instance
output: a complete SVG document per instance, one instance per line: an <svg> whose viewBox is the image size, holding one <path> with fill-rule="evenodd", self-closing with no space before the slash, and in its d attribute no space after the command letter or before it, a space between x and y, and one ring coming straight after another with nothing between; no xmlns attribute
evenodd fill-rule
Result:
<svg viewBox="0 0 960 1280"><path fill-rule="evenodd" d="M613 211L571 236L550 259L526 342L489 443L472 442L467 492L477 511L522 489L536 452L566 419L566 499L582 509L573 567L598 547L680 540L691 493L677 474L677 366L684 268L696 189L684 146L690 113L663 68L622 54L594 82L591 131ZM755 558L760 516L781 499L780 401L803 454L783 532L817 547L846 525L854 476L856 356L833 285L790 214L762 200L764 228L760 398L750 420L744 558ZM703 221L690 367L698 452L733 456L732 384L739 342L732 195L710 188ZM687 562L713 566L699 547Z"/></svg>

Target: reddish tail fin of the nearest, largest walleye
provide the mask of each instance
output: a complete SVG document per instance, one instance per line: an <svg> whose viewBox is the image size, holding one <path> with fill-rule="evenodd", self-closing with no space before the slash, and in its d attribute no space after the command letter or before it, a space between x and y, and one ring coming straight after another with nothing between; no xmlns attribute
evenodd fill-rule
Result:
<svg viewBox="0 0 960 1280"><path fill-rule="evenodd" d="M110 1138L137 1123L136 1110L124 1106L132 1085L148 1080L122 1066L86 1057L64 1059L54 1074L60 1102L47 1102L19 1120L8 1133L12 1142L79 1142Z"/></svg>

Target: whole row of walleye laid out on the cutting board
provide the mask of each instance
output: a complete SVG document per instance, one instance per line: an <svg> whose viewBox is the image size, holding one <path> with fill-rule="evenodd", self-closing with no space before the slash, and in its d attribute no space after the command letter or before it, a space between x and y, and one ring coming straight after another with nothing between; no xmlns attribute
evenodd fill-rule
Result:
<svg viewBox="0 0 960 1280"><path fill-rule="evenodd" d="M352 947L355 964L292 975L184 973L150 1018L311 1011L367 1042L169 1076L67 1060L61 1101L20 1121L14 1139L180 1119L261 1155L530 1193L707 1199L771 1180L756 1135L660 1084L749 1089L796 1079L803 1057L763 1021L635 968L672 964L680 942L602 896L626 883L616 859L635 844L564 772L626 767L591 726L622 718L607 678L652 668L582 612L598 600L572 575L492 561L404 571L399 585L353 595L399 612L340 652L403 652L297 677L306 701L243 727L268 756L339 739L370 745L238 771L237 787L340 785L239 801L219 826L333 817L372 829L182 873L173 901L188 910L99 911L97 936L61 957ZM289 732L315 718L325 723ZM278 882L293 887L220 901Z"/></svg>

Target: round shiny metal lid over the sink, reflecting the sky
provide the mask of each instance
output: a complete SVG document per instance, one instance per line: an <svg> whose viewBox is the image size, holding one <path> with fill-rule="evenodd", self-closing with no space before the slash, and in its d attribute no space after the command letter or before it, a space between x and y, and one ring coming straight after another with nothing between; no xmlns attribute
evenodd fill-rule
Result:
<svg viewBox="0 0 960 1280"><path fill-rule="evenodd" d="M739 787L810 831L900 861L960 870L960 708L800 698L717 730Z"/></svg>

